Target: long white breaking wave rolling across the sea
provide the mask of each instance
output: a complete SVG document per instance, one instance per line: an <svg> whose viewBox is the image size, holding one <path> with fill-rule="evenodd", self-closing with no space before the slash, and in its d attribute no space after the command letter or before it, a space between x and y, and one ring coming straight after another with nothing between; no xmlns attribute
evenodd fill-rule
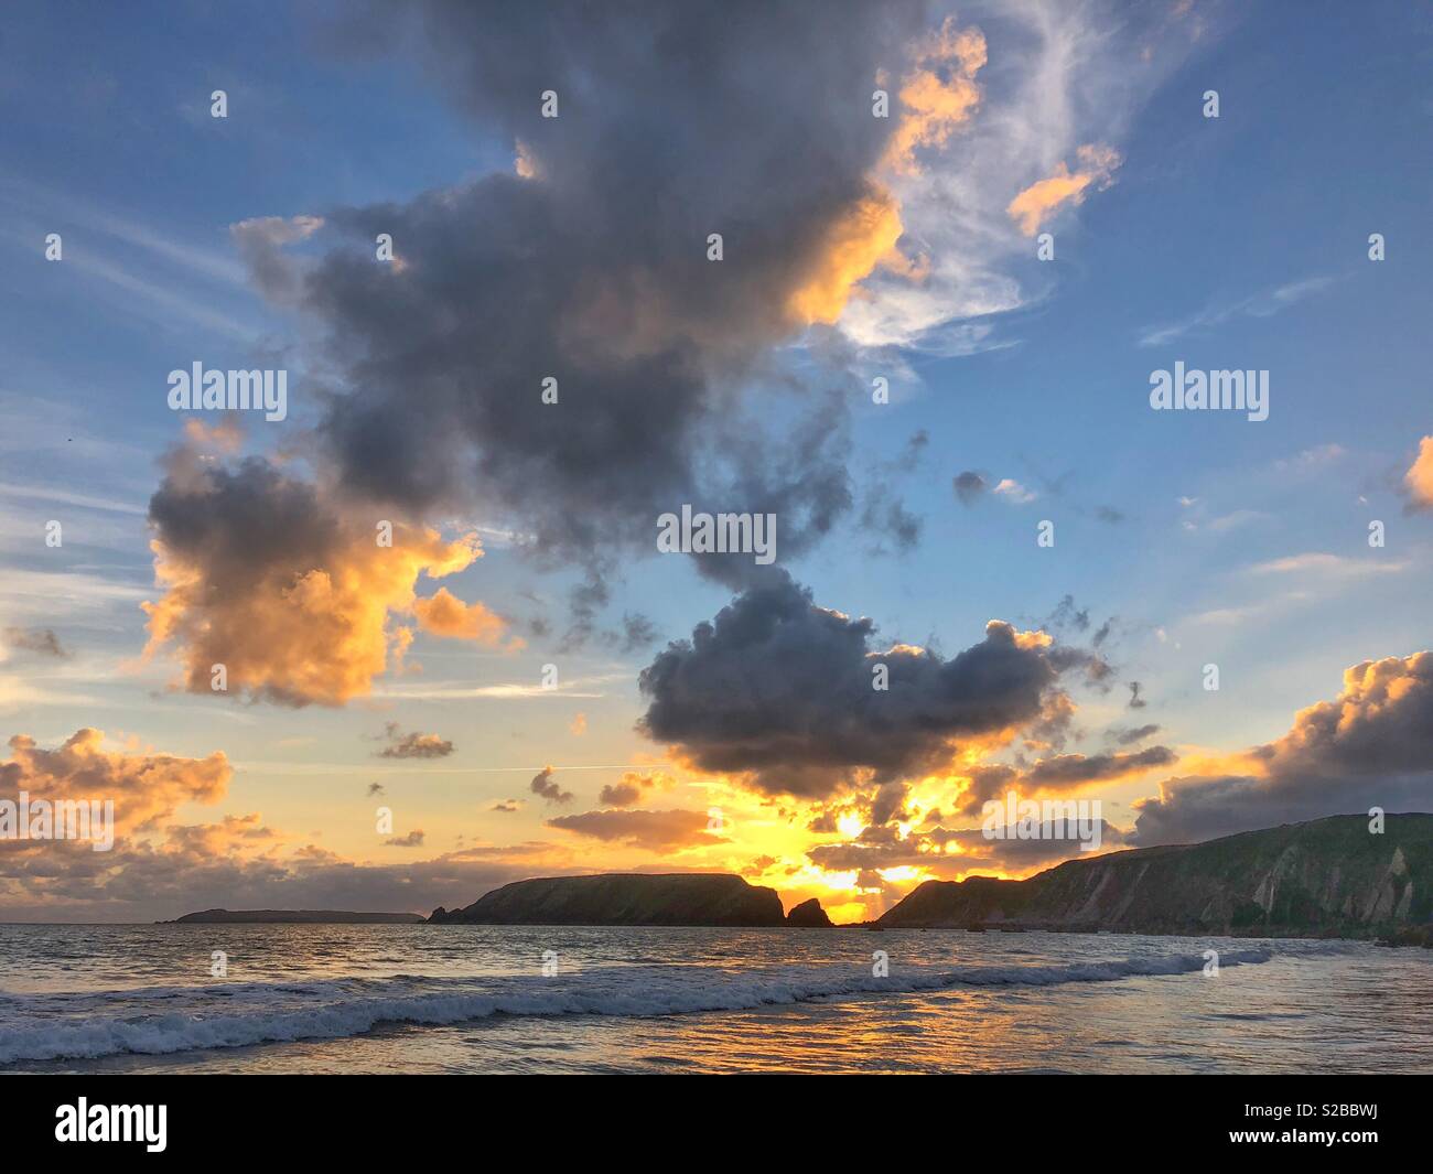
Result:
<svg viewBox="0 0 1433 1174"><path fill-rule="evenodd" d="M1270 958L1273 950L1268 949L1227 950L1219 955L1219 966L1257 965ZM962 986L1118 982L1195 973L1204 965L1202 955L1165 955L1065 965L897 966L890 978L876 978L868 968L840 973L833 973L833 968L804 968L794 973L605 968L550 979L494 979L486 989L470 989L471 982L463 979L322 979L312 983L232 983L69 995L62 996L69 1013L59 1016L27 1015L24 1005L30 1001L11 996L6 1015L10 1022L0 1025L0 1064L96 1059L126 1052L169 1055L299 1039L338 1039L387 1023L441 1026L493 1015L653 1018ZM417 989L420 983L438 989L421 991ZM464 985L469 989L463 989ZM118 1009L115 1002L138 1009L160 991L195 999L214 999L222 993L225 1005L202 1013L113 1013ZM295 1005L295 999L308 999L312 1005ZM251 1003L248 1009L234 1005L245 1001ZM44 1005L53 1009L54 996L47 998ZM20 1016L11 1018L16 1011L21 1012Z"/></svg>

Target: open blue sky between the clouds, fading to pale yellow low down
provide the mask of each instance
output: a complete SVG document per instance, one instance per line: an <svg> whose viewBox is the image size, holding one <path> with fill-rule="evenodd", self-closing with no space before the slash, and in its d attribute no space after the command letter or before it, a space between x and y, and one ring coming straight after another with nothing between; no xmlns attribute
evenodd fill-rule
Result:
<svg viewBox="0 0 1433 1174"><path fill-rule="evenodd" d="M1065 596L1091 619L1072 639L1116 618L1105 649L1113 685L1080 698L1086 738L1072 751L1141 722L1159 724L1161 743L1187 760L1275 740L1297 710L1338 694L1347 667L1427 645L1433 530L1409 509L1403 479L1433 423L1429 13L1394 3L953 11L989 44L982 105L929 152L923 176L891 181L903 249L934 258L927 288L941 312L920 337L851 344L853 378L888 374L893 401L850 399L857 506L784 565L821 606L873 618L881 641L933 641L946 655L976 644L992 618L1040 626ZM165 403L168 371L195 360L288 366L292 419L251 449L284 452L294 467L311 459L305 430L322 416L328 373L315 367L312 324L265 301L231 226L401 206L513 169L500 120L469 116L444 92L406 47L418 36L406 23L396 19L391 37L381 24L340 36L330 14L21 4L7 19L0 626L50 629L69 655L13 649L0 662L6 735L54 745L97 727L135 753L222 750L235 765L226 797L181 817L262 811L267 824L360 862L394 853L370 846L363 784L378 778L404 796L398 830L428 829L430 854L456 850L456 836L550 837L552 813L526 794L527 773L549 763L566 768L579 804L649 764L672 773L674 803L705 808L714 791L663 767L662 748L633 732L645 707L636 674L662 642L714 616L731 585L686 560L626 559L602 626L642 614L661 639L565 646L580 569L543 565L489 533L517 523L483 502L430 519L446 532L484 528L484 558L443 582L503 615L547 615L553 631L527 634L520 651L420 634L421 675L380 677L371 695L338 708L215 704L171 689L163 657L139 664L138 605L156 598L148 500L182 426ZM214 89L228 92L224 120L209 116ZM1218 119L1201 115L1211 89ZM1055 259L1037 261L1005 204L1056 162L1075 166L1083 143L1108 145L1121 162L1108 186L1052 209L1040 231L1053 232ZM44 258L49 232L63 235L59 264ZM1369 259L1373 232L1387 242L1384 261ZM325 248L315 238L291 254L304 264ZM853 302L884 297L881 280ZM1003 308L979 312L983 288L1005 290L986 298ZM761 407L775 397L768 387L840 333L841 323L787 341L747 388L757 419L787 411ZM1149 373L1176 360L1268 370L1268 420L1151 411ZM914 467L881 472L921 431ZM966 470L1017 485L966 505L953 492ZM858 525L878 487L921 520L916 549ZM59 552L43 542L52 517L64 522ZM1053 549L1036 545L1042 519L1056 525ZM1367 542L1374 519L1387 528L1383 549ZM573 682L557 697L437 695L522 691L549 662ZM1209 662L1222 675L1214 694L1201 687ZM1126 707L1131 681L1144 708ZM388 721L436 730L457 750L375 760ZM1159 781L1155 771L1112 784L1112 821L1128 824L1129 804ZM486 814L509 797L529 806ZM735 866L731 851L691 863Z"/></svg>

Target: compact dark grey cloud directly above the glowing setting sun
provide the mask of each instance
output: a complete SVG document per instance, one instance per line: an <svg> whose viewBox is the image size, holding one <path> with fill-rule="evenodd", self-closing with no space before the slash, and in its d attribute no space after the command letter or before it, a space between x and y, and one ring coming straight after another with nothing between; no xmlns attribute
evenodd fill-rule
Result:
<svg viewBox="0 0 1433 1174"><path fill-rule="evenodd" d="M1035 721L1060 674L1092 664L1002 621L949 661L910 645L880 651L874 631L774 575L642 671L649 705L639 728L702 770L824 798L861 771L880 783L906 777L947 760L957 740ZM873 688L877 665L886 691Z"/></svg>

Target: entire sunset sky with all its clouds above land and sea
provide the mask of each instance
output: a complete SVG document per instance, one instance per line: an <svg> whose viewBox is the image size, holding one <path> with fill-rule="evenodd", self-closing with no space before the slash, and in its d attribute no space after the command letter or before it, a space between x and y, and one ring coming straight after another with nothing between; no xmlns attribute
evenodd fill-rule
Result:
<svg viewBox="0 0 1433 1174"><path fill-rule="evenodd" d="M860 920L1080 854L1010 793L1433 810L1426 4L20 3L0 65L0 801L116 811L0 919Z"/></svg>

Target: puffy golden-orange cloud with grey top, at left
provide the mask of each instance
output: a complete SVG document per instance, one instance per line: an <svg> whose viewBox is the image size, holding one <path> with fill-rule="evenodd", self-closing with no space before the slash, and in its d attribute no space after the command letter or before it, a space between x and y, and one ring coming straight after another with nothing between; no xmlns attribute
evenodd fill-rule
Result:
<svg viewBox="0 0 1433 1174"><path fill-rule="evenodd" d="M165 593L143 605L146 657L172 644L186 691L212 694L214 667L224 665L229 694L294 707L367 695L413 638L390 621L421 606L418 576L481 556L476 535L444 542L338 505L261 457L201 460L192 443L169 454L149 519ZM391 546L378 543L380 523L391 526Z"/></svg>

